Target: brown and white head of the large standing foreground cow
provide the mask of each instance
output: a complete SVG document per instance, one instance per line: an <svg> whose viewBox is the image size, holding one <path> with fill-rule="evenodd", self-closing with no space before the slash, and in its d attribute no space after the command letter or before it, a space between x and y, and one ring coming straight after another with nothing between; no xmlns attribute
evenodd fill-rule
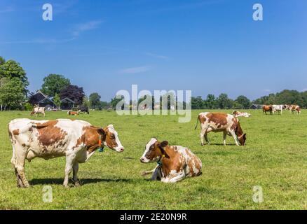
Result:
<svg viewBox="0 0 307 224"><path fill-rule="evenodd" d="M125 148L118 139L118 134L114 129L113 125L108 125L104 129L100 128L97 130L98 134L102 136L102 144L115 150L118 153L123 152Z"/></svg>

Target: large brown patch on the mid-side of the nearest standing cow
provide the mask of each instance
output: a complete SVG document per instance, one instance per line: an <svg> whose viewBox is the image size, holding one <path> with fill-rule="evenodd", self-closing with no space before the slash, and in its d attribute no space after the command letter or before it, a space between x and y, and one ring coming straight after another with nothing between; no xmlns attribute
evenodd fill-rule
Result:
<svg viewBox="0 0 307 224"><path fill-rule="evenodd" d="M55 127L57 120L49 120L46 123L37 123L36 128L39 132L38 140L46 150L48 146L53 146L60 143L67 136L67 132L64 132L59 127Z"/></svg>

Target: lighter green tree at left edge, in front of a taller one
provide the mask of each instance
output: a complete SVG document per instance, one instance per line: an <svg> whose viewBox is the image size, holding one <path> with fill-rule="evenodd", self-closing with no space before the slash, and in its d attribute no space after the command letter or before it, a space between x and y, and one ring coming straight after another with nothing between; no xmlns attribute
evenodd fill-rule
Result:
<svg viewBox="0 0 307 224"><path fill-rule="evenodd" d="M13 90L13 91L12 91ZM21 109L25 102L24 83L18 78L1 78L0 104L1 109Z"/></svg>

